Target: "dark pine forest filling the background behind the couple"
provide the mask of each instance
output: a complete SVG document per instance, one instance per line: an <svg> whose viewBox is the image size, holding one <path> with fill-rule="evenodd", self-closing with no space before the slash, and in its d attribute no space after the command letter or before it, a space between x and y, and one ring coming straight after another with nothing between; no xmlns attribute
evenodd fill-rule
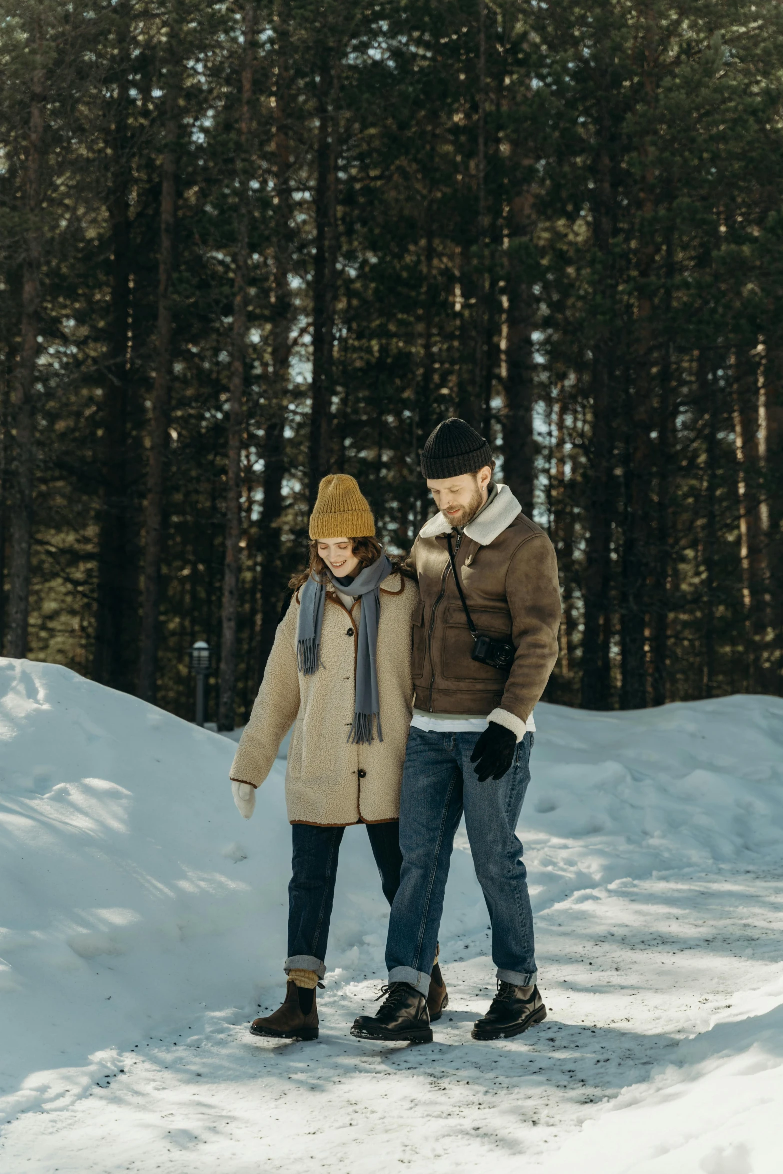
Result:
<svg viewBox="0 0 783 1174"><path fill-rule="evenodd" d="M777 0L0 0L0 650L247 721L308 515L457 414L546 700L783 695Z"/></svg>

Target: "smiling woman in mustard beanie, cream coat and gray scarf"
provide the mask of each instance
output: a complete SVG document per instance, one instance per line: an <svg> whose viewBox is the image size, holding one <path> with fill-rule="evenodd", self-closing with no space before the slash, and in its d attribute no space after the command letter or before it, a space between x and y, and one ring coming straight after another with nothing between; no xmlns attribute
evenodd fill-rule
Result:
<svg viewBox="0 0 783 1174"><path fill-rule="evenodd" d="M384 554L352 477L325 477L310 518L310 566L291 580L291 603L234 765L231 785L249 819L285 734L292 828L285 999L254 1020L256 1035L316 1039L316 986L326 940L337 858L349 824L364 823L391 904L399 886L399 790L411 723L411 618L418 589ZM349 537L340 537L349 535ZM350 637L350 639L349 639ZM446 1005L433 967L432 1018ZM430 1000L428 1000L430 1001Z"/></svg>

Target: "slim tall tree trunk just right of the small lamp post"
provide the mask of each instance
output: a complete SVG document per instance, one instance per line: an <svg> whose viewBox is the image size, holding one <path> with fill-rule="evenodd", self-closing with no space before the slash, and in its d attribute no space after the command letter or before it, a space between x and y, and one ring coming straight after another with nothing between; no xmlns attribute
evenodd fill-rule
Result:
<svg viewBox="0 0 783 1174"><path fill-rule="evenodd" d="M225 561L223 568L223 630L217 728L232 730L237 664L237 609L239 595L239 534L242 528L242 431L244 423L244 366L248 339L248 216L250 193L249 140L252 102L254 26L252 4L244 9L244 63L239 120L237 245L234 265L234 331L229 403L228 473L225 486Z"/></svg>

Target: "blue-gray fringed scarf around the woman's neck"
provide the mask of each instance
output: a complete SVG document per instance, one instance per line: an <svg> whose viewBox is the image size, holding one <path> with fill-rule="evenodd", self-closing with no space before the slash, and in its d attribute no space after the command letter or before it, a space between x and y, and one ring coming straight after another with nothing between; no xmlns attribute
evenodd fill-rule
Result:
<svg viewBox="0 0 783 1174"><path fill-rule="evenodd" d="M380 583L392 573L391 561L385 554L347 586L326 572L344 595L362 599L359 620L359 643L356 659L356 701L353 724L349 742L372 742L373 718L378 724L378 741L384 736L380 729L380 706L378 702L378 674L376 672L376 643L378 641L378 616L380 614ZM299 621L296 632L296 656L299 673L312 676L320 668L320 629L324 622L326 588L312 575L299 592Z"/></svg>

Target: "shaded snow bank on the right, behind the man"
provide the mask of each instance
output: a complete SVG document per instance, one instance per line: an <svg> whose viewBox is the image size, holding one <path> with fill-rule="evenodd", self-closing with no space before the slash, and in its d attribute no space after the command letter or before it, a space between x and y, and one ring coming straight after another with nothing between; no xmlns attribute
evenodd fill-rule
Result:
<svg viewBox="0 0 783 1174"><path fill-rule="evenodd" d="M630 714L536 709L525 828L545 892L781 858L783 701L722 697ZM529 830L528 830L529 829Z"/></svg>

